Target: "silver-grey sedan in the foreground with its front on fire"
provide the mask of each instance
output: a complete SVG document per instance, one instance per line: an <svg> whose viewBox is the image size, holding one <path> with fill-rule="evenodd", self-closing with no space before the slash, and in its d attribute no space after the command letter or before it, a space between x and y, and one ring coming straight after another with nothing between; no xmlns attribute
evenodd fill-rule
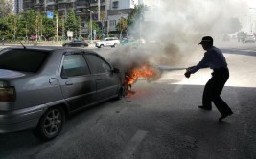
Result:
<svg viewBox="0 0 256 159"><path fill-rule="evenodd" d="M51 140L66 115L121 93L119 69L96 52L42 46L0 51L0 133L32 128Z"/></svg>

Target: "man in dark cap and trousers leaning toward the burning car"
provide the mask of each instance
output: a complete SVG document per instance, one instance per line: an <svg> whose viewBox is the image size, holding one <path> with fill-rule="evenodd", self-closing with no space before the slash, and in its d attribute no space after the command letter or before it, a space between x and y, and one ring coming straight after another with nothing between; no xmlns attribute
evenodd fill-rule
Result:
<svg viewBox="0 0 256 159"><path fill-rule="evenodd" d="M202 105L199 108L212 110L212 102L214 102L221 113L219 118L221 122L222 119L233 114L226 102L221 99L222 89L229 78L227 63L221 50L213 46L213 38L211 36L203 37L199 44L206 51L204 57L198 65L187 69L185 77L189 78L191 74L196 73L201 68L210 67L210 69L213 69L212 78L208 80L204 87Z"/></svg>

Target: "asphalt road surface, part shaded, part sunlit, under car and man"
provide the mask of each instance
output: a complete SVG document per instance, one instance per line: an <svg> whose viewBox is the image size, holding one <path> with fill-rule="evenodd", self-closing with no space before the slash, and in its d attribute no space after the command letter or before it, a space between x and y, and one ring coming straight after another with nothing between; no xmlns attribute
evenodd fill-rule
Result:
<svg viewBox="0 0 256 159"><path fill-rule="evenodd" d="M156 81L139 79L126 98L70 117L53 141L29 130L0 134L0 158L256 159L256 44L221 48L230 69L221 97L234 111L222 123L216 107L198 109L211 70L186 79L166 69Z"/></svg>

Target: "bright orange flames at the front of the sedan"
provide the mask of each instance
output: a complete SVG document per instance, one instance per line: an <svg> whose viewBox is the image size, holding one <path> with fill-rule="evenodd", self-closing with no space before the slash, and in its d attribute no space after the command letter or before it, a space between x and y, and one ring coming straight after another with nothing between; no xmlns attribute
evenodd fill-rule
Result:
<svg viewBox="0 0 256 159"><path fill-rule="evenodd" d="M127 84L131 85L138 78L151 78L154 76L154 71L151 66L145 64L142 67L132 69L128 75L126 75Z"/></svg>

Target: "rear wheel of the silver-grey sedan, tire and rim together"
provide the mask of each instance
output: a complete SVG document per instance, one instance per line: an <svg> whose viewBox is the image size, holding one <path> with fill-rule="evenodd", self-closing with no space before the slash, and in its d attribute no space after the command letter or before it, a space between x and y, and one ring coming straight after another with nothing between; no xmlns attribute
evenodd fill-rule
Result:
<svg viewBox="0 0 256 159"><path fill-rule="evenodd" d="M54 139L61 132L64 123L65 113L62 107L49 108L40 118L34 134L43 141Z"/></svg>

